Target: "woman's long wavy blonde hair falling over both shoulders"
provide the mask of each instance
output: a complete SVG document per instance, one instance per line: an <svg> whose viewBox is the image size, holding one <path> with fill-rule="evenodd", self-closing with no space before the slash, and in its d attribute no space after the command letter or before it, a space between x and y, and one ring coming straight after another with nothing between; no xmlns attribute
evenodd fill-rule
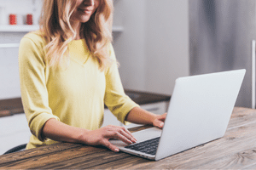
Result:
<svg viewBox="0 0 256 170"><path fill-rule="evenodd" d="M81 31L90 50L104 68L110 63L108 44L112 42L113 0L98 0L100 4L90 20L82 23ZM40 29L46 40L46 59L49 65L68 60L68 43L73 41L75 31L70 17L76 7L76 0L44 0L40 18ZM70 36L73 35L73 36Z"/></svg>

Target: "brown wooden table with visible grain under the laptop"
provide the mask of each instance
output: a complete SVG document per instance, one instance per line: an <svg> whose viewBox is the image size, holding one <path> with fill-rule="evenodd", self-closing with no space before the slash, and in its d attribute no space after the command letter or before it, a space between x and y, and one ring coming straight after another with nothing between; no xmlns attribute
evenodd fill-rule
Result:
<svg viewBox="0 0 256 170"><path fill-rule="evenodd" d="M137 130L137 129L132 129ZM256 110L235 108L224 138L160 161L83 144L52 144L0 156L0 169L255 169Z"/></svg>

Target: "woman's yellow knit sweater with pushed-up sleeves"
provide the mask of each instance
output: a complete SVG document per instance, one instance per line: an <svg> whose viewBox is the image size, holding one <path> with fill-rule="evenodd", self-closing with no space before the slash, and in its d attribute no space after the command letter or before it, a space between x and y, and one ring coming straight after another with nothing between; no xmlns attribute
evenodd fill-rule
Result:
<svg viewBox="0 0 256 170"><path fill-rule="evenodd" d="M42 128L50 118L73 127L95 130L102 126L104 103L120 122L138 106L125 95L115 61L100 71L84 40L68 44L68 67L49 66L44 38L36 32L21 39L19 50L21 99L32 136L27 149L56 141L44 139Z"/></svg>

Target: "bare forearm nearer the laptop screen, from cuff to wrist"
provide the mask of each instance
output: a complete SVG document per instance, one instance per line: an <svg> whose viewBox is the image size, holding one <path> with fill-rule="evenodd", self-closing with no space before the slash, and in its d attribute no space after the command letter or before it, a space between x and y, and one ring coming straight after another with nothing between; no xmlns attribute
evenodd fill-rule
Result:
<svg viewBox="0 0 256 170"><path fill-rule="evenodd" d="M126 116L125 121L137 124L153 125L155 119L156 115L154 115L153 113L145 111L139 107L134 107Z"/></svg>

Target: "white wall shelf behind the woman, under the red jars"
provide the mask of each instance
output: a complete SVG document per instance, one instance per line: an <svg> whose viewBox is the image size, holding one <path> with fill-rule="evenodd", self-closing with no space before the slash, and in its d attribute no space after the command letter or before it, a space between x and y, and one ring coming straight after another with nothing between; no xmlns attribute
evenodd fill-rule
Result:
<svg viewBox="0 0 256 170"><path fill-rule="evenodd" d="M36 31L39 26L0 26L0 32L29 32ZM123 26L113 26L113 32L124 31Z"/></svg>

